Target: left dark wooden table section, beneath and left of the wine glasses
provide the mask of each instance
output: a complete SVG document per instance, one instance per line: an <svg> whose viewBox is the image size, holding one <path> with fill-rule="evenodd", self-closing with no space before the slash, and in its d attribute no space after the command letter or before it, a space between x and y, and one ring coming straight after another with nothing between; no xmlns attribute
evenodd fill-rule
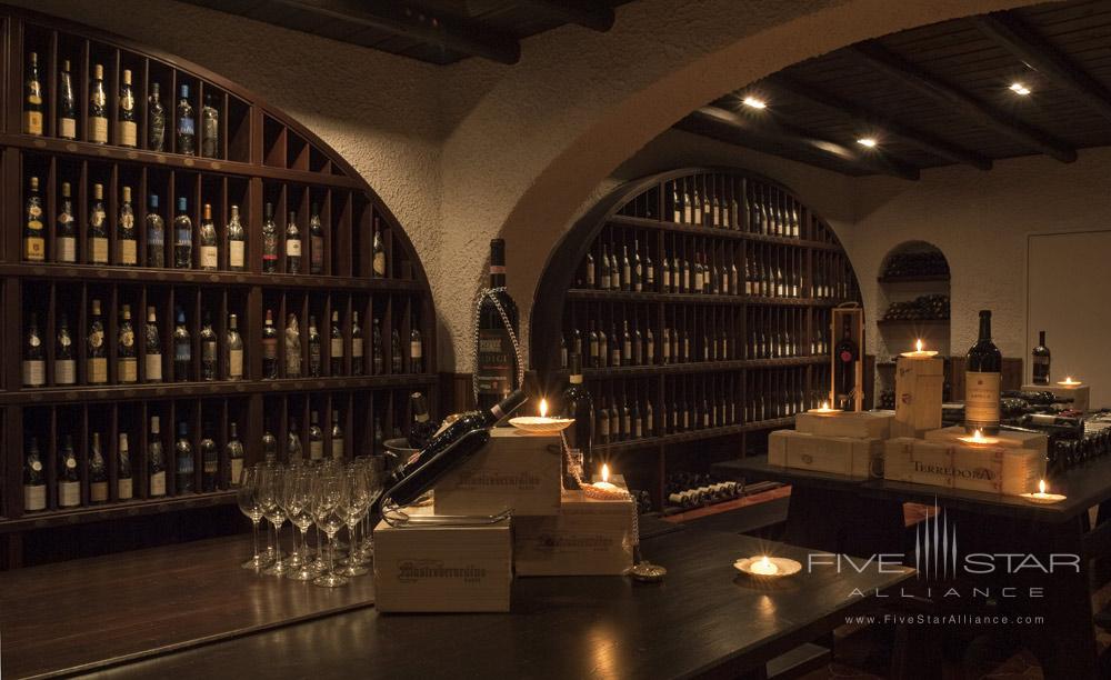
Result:
<svg viewBox="0 0 1111 680"><path fill-rule="evenodd" d="M318 588L241 569L250 556L237 536L0 572L0 677L72 673L373 603L369 576Z"/></svg>

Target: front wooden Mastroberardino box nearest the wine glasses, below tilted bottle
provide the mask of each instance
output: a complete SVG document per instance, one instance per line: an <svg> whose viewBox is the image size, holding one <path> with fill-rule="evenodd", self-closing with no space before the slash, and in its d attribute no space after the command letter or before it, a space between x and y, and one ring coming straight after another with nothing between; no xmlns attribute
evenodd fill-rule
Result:
<svg viewBox="0 0 1111 680"><path fill-rule="evenodd" d="M428 514L429 509L407 510ZM374 607L382 612L509 611L511 520L478 527L374 528Z"/></svg>

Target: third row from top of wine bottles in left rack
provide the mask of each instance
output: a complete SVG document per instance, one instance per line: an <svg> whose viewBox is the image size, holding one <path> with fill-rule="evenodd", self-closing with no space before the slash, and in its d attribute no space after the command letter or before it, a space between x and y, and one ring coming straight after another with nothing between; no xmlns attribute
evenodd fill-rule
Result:
<svg viewBox="0 0 1111 680"><path fill-rule="evenodd" d="M192 331L190 330L192 328ZM359 326L359 312L352 313L349 332L341 328L339 311L332 311L331 328L327 340L317 329L314 316L309 316L307 346L302 348L301 332L298 328L298 317L290 312L286 331L282 334L284 351L278 351L278 329L274 328L273 312L267 310L262 328L262 379L318 378L322 376L343 376L346 372L344 357L351 356L351 376L362 376L369 369L369 374L387 373L387 350L382 338L381 323L378 319L371 324L370 366L364 363L362 328ZM200 356L193 356L193 332L199 336ZM393 329L390 334L389 372L406 372L406 351L402 349L401 333ZM57 321L57 338L53 346L53 359L48 371L46 346L40 332L38 316L29 317L23 342L22 382L23 387L40 388L46 386L79 384L127 384L136 382L188 382L193 380L242 380L244 373L244 347L239 331L239 318L231 313L224 338L219 338L212 328L211 314L203 313L199 330L187 323L186 311L177 310L176 323L170 334L171 351L163 356L167 347L160 330L158 311L154 307L147 308L147 323L142 328L142 364L136 337L136 323L131 318L131 306L120 307L120 319L117 324L114 346L116 367L109 371L109 351L106 337L106 324L99 299L90 303L88 329L86 332L86 351L83 370L78 370L78 352L74 346L66 312L60 312ZM324 363L324 343L328 343L327 366ZM220 374L221 352L223 356L223 373ZM409 372L423 372L423 338L417 326L412 327L409 337L408 361ZM284 361L279 366L279 357ZM302 369L303 367L303 369ZM79 374L80 373L80 374Z"/></svg>

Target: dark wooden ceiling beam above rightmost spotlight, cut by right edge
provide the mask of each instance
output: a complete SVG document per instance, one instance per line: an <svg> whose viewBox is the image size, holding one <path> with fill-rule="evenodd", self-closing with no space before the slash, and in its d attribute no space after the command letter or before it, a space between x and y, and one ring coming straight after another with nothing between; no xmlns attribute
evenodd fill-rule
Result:
<svg viewBox="0 0 1111 680"><path fill-rule="evenodd" d="M1111 91L1081 69L1068 54L1053 47L1022 21L1007 12L973 17L981 33L995 41L1027 66L1072 92L1100 116L1111 119Z"/></svg>

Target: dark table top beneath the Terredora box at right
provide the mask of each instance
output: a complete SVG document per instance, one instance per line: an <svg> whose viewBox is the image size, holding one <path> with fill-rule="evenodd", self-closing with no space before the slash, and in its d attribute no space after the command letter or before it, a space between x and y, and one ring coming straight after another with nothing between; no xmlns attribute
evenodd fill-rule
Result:
<svg viewBox="0 0 1111 680"><path fill-rule="evenodd" d="M722 476L743 476L750 479L774 479L795 486L842 490L891 501L910 501L981 512L1001 514L1039 522L1063 522L1111 499L1111 458L1094 460L1072 468L1052 480L1051 491L1067 498L1060 503L1040 506L1017 496L947 489L930 484L889 481L883 479L855 480L828 472L810 472L768 463L767 456L753 456L713 466Z"/></svg>

